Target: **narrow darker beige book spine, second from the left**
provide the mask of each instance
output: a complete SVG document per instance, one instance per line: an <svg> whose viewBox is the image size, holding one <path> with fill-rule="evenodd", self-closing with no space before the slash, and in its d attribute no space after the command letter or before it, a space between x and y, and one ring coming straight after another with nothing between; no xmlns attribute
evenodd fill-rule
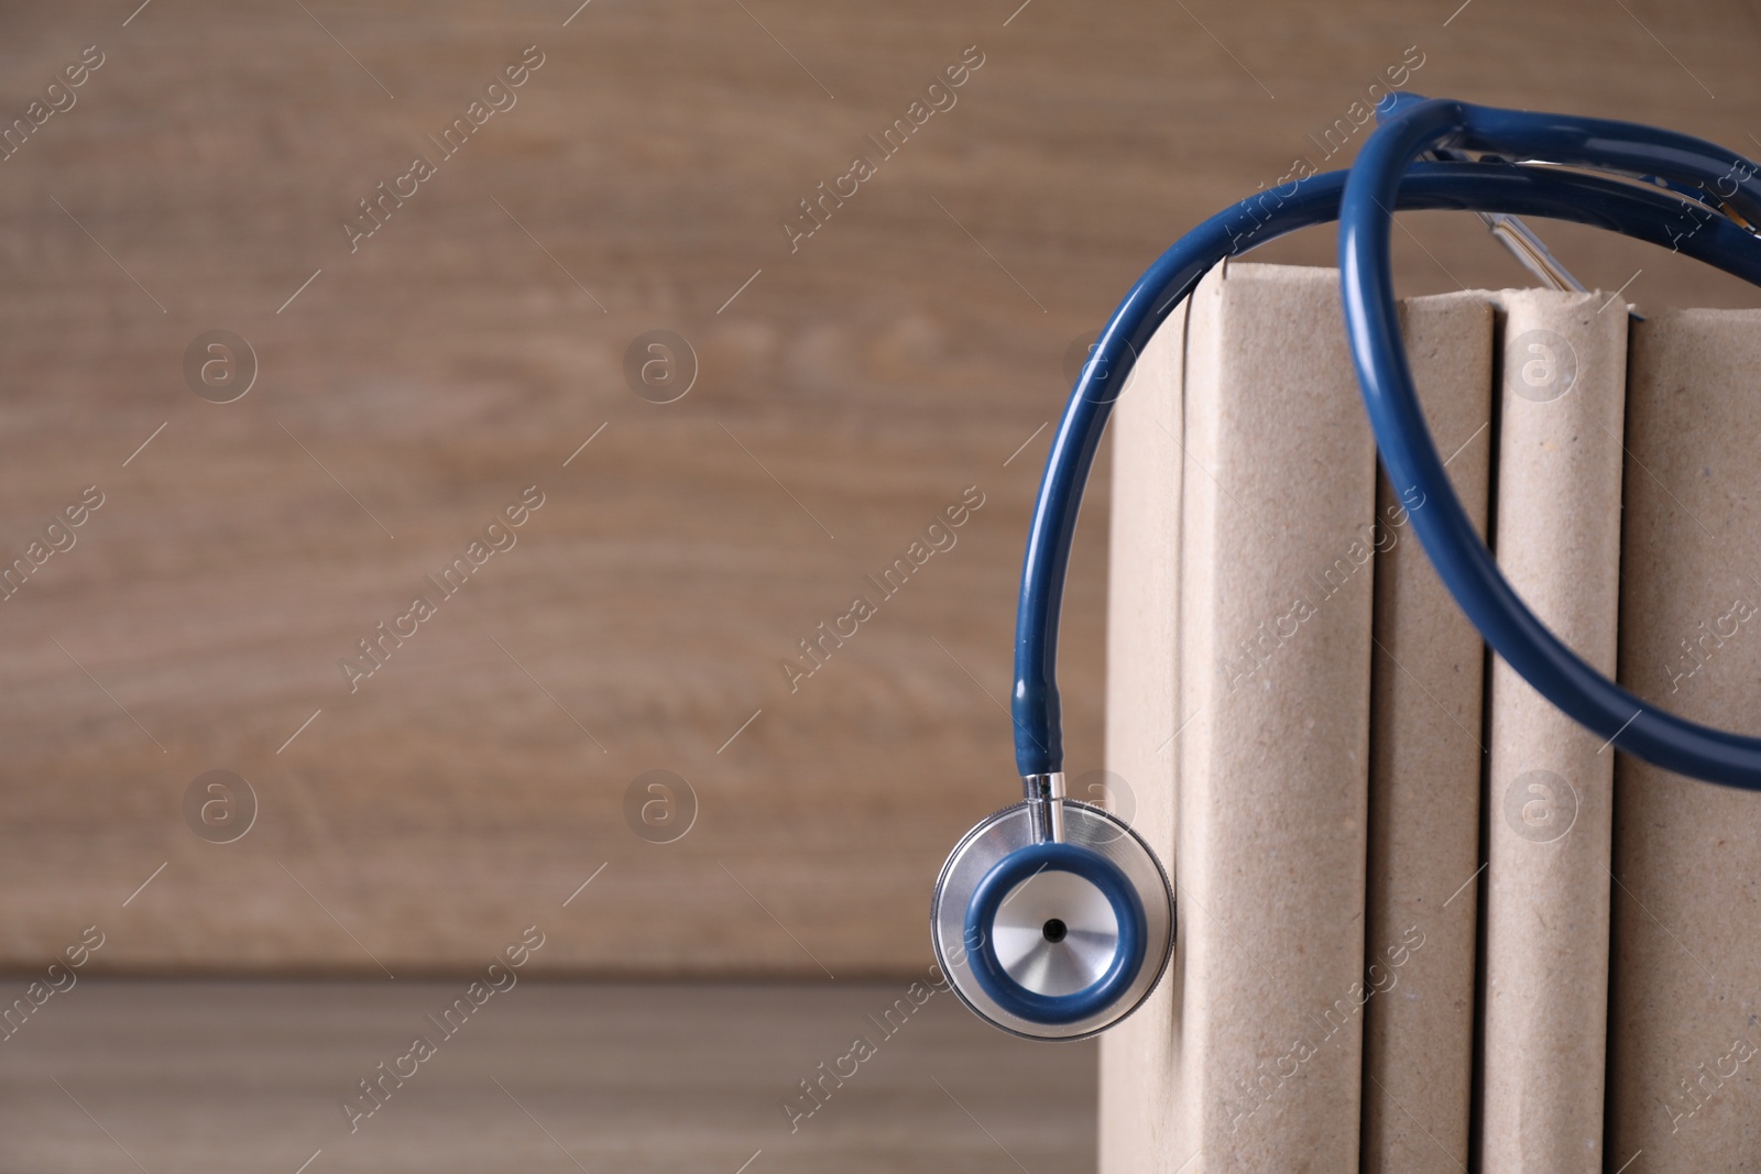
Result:
<svg viewBox="0 0 1761 1174"><path fill-rule="evenodd" d="M1492 305L1449 294L1402 310L1437 449L1485 535ZM1469 1162L1485 646L1412 532L1425 505L1377 477L1365 1174L1453 1169L1442 1155Z"/></svg>

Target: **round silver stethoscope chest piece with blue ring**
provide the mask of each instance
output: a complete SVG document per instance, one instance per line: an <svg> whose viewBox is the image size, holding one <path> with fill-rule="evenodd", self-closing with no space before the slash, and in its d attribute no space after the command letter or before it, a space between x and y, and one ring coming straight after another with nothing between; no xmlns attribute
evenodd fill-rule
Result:
<svg viewBox="0 0 1761 1174"><path fill-rule="evenodd" d="M1136 1010L1168 966L1175 901L1138 834L1101 808L1060 801L1062 836L1035 804L974 827L930 905L953 989L1006 1031L1078 1040Z"/></svg>

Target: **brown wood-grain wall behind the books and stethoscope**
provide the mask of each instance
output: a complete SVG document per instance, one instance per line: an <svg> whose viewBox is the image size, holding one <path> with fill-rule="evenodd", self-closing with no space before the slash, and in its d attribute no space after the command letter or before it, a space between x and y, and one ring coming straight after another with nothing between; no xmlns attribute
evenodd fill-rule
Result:
<svg viewBox="0 0 1761 1174"><path fill-rule="evenodd" d="M1409 46L1421 93L1761 128L1736 4L1016 4L0 11L5 120L104 53L0 164L0 554L106 495L0 602L0 965L97 924L95 970L463 972L539 924L551 973L914 972L944 854L1016 794L1037 429L1157 252L1333 165L1310 136ZM356 201L530 44L518 104L350 253ZM796 201L967 46L958 104L791 253ZM1470 218L1407 227L1407 292L1525 282ZM1548 239L1641 308L1749 303ZM185 385L210 329L261 363L231 405ZM650 329L696 350L676 403L625 382ZM336 660L528 484L518 546L350 695ZM780 660L970 484L958 546L791 693ZM1076 774L1104 507L1067 607ZM259 799L236 843L185 824L210 769ZM676 843L625 824L650 769L697 796Z"/></svg>

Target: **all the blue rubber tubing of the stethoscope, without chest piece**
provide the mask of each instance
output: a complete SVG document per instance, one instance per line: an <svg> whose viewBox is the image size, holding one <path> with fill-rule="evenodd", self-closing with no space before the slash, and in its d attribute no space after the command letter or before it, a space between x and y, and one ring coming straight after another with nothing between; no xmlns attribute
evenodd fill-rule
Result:
<svg viewBox="0 0 1761 1174"><path fill-rule="evenodd" d="M1389 269L1391 209L1463 209L1588 224L1671 248L1761 285L1761 241L1684 190L1715 192L1761 224L1756 165L1724 148L1648 127L1560 114L1490 111L1393 95L1352 172L1324 172L1259 192L1199 224L1131 287L1083 366L1028 528L1016 611L1014 722L1021 774L1064 766L1057 637L1071 539L1101 433L1136 356L1169 312L1226 257L1340 218L1345 319L1365 405L1389 479L1418 486L1425 551L1486 641L1530 685L1627 753L1733 787L1761 787L1761 739L1713 730L1638 701L1536 620L1469 525L1442 472L1400 347ZM1499 162L1411 162L1433 146L1592 164L1648 183Z"/></svg>

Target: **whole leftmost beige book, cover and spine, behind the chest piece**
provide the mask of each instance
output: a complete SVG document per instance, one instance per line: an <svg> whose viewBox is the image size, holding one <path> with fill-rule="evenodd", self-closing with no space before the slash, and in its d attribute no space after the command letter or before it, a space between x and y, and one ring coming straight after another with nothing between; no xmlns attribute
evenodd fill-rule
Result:
<svg viewBox="0 0 1761 1174"><path fill-rule="evenodd" d="M1365 938L1375 560L1405 517L1379 505L1338 322L1333 271L1219 268L1113 424L1108 764L1176 861L1180 931L1162 987L1102 1038L1109 1174L1358 1169L1365 1007L1430 949L1414 924ZM1456 435L1488 400L1485 301L1418 299L1407 329L1467 405ZM1456 752L1472 797L1477 743ZM1472 859L1472 810L1456 822Z"/></svg>

